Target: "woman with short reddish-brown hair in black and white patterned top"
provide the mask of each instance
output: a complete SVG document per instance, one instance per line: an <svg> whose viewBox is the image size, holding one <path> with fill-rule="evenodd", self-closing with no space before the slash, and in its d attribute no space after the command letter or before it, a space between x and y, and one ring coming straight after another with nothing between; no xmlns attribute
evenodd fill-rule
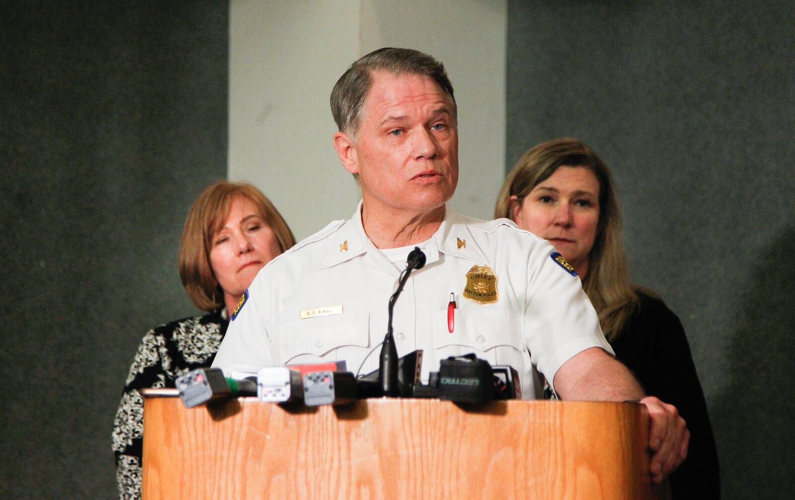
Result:
<svg viewBox="0 0 795 500"><path fill-rule="evenodd" d="M209 367L254 276L294 244L281 214L250 184L221 181L193 202L180 240L180 279L205 314L157 326L138 347L114 419L119 498L141 498L140 390L174 387L180 375Z"/></svg>

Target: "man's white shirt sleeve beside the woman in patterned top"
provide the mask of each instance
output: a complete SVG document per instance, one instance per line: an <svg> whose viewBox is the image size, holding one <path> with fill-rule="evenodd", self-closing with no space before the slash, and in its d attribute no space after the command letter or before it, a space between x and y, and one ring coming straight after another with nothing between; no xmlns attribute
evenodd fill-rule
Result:
<svg viewBox="0 0 795 500"><path fill-rule="evenodd" d="M254 283L246 290L246 300L230 318L227 335L212 362L212 367L219 367L224 373L235 365L266 367L274 364L266 325L259 313L266 297L258 293Z"/></svg>

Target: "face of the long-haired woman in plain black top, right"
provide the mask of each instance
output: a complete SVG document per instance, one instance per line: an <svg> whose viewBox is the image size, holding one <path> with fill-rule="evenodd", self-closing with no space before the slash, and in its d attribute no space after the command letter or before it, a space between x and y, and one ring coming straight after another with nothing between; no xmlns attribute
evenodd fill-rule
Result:
<svg viewBox="0 0 795 500"><path fill-rule="evenodd" d="M549 240L585 277L599 226L599 180L586 167L558 167L523 199L512 196L516 224Z"/></svg>

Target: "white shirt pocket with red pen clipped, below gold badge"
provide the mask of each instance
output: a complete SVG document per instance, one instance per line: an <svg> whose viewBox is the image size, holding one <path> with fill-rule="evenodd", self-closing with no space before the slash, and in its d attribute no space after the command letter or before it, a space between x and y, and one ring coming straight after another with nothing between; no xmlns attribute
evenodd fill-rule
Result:
<svg viewBox="0 0 795 500"><path fill-rule="evenodd" d="M509 310L456 309L455 329L449 333L445 309L434 313L433 325L433 348L439 360L475 352L492 365L507 364L519 373L529 366L518 321Z"/></svg>

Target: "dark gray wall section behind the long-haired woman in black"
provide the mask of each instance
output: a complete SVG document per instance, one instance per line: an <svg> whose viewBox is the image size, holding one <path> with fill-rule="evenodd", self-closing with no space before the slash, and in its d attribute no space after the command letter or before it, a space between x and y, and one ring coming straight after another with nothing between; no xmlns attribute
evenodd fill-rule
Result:
<svg viewBox="0 0 795 500"><path fill-rule="evenodd" d="M724 498L795 491L795 4L509 2L506 167L579 137L688 332Z"/></svg>

